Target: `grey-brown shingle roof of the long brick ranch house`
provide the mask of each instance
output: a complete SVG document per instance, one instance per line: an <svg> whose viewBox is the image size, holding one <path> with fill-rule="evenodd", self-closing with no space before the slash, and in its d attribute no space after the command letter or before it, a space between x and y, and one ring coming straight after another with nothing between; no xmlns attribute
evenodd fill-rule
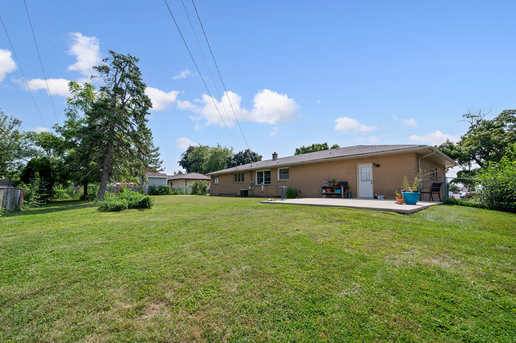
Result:
<svg viewBox="0 0 516 343"><path fill-rule="evenodd" d="M257 161L247 165L241 165L238 167L227 168L223 170L218 170L212 173L207 173L206 175L217 175L223 173L231 173L236 171L246 171L246 170L257 170L262 168L270 168L270 167L279 167L286 166L292 164L298 164L309 161L316 160L324 160L338 157L351 157L356 155L368 155L368 154L380 154L380 153L388 153L388 152L401 152L402 150L408 149L434 149L428 145L421 144L392 144L392 145L353 145L353 146L345 146L343 148L330 149L324 151L317 151L314 153L308 154L300 154L288 157L281 157L276 160L267 159L265 161ZM449 157L448 159L451 160ZM455 163L455 161L454 161Z"/></svg>

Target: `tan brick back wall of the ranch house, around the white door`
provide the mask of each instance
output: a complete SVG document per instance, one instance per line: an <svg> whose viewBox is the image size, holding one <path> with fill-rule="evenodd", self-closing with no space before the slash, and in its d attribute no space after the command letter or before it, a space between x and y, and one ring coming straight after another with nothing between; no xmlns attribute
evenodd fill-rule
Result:
<svg viewBox="0 0 516 343"><path fill-rule="evenodd" d="M404 175L413 179L417 174L417 155L415 153L313 162L311 164L289 166L288 181L278 181L277 168L270 168L271 184L265 185L263 192L261 191L261 185L254 185L250 195L278 197L281 195L281 189L278 186L288 186L301 190L300 197L320 197L319 187L322 186L322 182L335 179L337 182L347 181L348 192L351 192L352 198L357 198L357 165L367 163L380 165L380 167L373 167L373 194L385 195L387 199L394 199L395 191L401 189ZM234 182L234 173L220 174L218 175L219 183L217 185L214 184L214 177L212 176L212 194L240 194L240 189L247 189L250 186L251 177L255 181L255 171L247 171L244 174L243 183Z"/></svg>

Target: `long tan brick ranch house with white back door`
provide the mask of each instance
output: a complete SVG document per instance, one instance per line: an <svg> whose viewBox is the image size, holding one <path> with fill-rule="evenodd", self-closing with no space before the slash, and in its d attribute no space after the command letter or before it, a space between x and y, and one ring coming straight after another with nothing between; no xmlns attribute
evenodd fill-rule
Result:
<svg viewBox="0 0 516 343"><path fill-rule="evenodd" d="M404 175L413 179L418 170L432 172L423 182L444 182L445 168L457 162L429 145L354 145L344 148L253 162L208 173L213 195L236 195L249 189L255 197L281 196L279 186L297 188L300 197L321 197L325 180L347 182L352 198L374 194L394 199ZM262 191L262 183L263 191ZM444 195L444 187L441 187Z"/></svg>

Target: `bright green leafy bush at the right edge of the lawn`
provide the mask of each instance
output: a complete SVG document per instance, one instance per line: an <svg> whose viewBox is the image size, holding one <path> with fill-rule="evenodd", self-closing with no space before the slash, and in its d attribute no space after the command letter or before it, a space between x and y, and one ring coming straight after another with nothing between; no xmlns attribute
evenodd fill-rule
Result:
<svg viewBox="0 0 516 343"><path fill-rule="evenodd" d="M485 208L516 213L516 144L510 145L499 162L487 162L477 172L476 196Z"/></svg>

